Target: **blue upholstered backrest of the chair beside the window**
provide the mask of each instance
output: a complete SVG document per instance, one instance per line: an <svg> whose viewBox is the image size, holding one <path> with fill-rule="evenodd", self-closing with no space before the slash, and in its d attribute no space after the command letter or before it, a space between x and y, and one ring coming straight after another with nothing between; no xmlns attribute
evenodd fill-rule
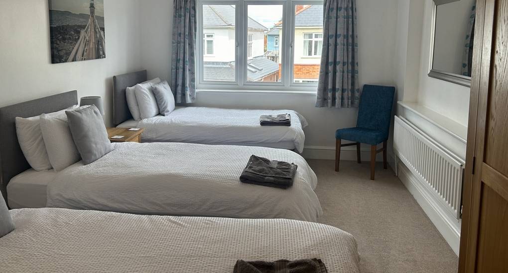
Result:
<svg viewBox="0 0 508 273"><path fill-rule="evenodd" d="M356 126L382 131L388 139L394 96L395 87L364 85Z"/></svg>

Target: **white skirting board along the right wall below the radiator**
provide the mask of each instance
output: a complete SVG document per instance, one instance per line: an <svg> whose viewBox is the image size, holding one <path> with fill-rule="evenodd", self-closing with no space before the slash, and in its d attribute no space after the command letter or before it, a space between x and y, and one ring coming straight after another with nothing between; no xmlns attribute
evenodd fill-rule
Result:
<svg viewBox="0 0 508 273"><path fill-rule="evenodd" d="M446 214L439 209L439 206L427 196L427 193L421 188L417 178L403 163L398 162L397 167L399 179L406 186L407 190L412 194L420 207L422 207L423 211L427 214L439 233L441 233L444 240L447 241L458 256L460 246L460 222L458 222L457 219L449 219Z"/></svg>

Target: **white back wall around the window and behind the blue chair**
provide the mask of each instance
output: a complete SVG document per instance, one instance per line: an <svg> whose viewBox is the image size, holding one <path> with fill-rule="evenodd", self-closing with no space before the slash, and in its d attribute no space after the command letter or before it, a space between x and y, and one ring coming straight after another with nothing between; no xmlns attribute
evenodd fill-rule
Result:
<svg viewBox="0 0 508 273"><path fill-rule="evenodd" d="M358 33L361 84L394 84L394 56L398 0L358 0ZM150 77L170 77L172 1L140 4L143 20L142 66ZM148 16L149 15L149 16ZM162 20L161 20L162 19ZM162 48L162 50L157 50ZM168 50L169 49L169 50ZM356 125L358 109L315 108L315 94L199 92L196 105L229 108L289 108L303 114L306 146L335 149L335 130Z"/></svg>

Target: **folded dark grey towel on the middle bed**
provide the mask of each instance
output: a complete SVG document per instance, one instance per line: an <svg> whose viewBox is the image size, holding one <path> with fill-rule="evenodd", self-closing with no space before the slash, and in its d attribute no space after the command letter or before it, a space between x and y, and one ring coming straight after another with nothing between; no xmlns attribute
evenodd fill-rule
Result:
<svg viewBox="0 0 508 273"><path fill-rule="evenodd" d="M247 166L240 175L243 183L277 188L289 188L293 185L297 165L293 163L271 161L251 155Z"/></svg>

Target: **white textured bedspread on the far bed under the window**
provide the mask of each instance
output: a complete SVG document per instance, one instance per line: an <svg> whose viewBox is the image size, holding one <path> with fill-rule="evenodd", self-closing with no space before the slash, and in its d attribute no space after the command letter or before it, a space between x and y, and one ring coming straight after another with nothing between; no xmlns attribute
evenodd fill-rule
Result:
<svg viewBox="0 0 508 273"><path fill-rule="evenodd" d="M261 126L261 115L289 113L291 126ZM182 107L168 116L142 120L143 141L190 142L204 144L294 143L303 151L307 122L293 110L250 110L208 107Z"/></svg>

